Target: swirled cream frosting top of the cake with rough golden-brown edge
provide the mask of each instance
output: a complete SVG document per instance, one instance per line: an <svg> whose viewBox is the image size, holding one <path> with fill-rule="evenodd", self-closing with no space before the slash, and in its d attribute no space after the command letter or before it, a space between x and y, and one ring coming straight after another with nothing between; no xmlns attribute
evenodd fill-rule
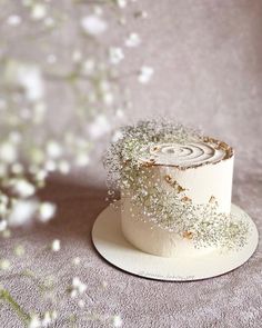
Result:
<svg viewBox="0 0 262 328"><path fill-rule="evenodd" d="M143 149L142 162L150 166L175 166L192 168L208 163L216 163L232 157L233 150L226 143L212 141L194 141L187 145L157 143Z"/></svg>

